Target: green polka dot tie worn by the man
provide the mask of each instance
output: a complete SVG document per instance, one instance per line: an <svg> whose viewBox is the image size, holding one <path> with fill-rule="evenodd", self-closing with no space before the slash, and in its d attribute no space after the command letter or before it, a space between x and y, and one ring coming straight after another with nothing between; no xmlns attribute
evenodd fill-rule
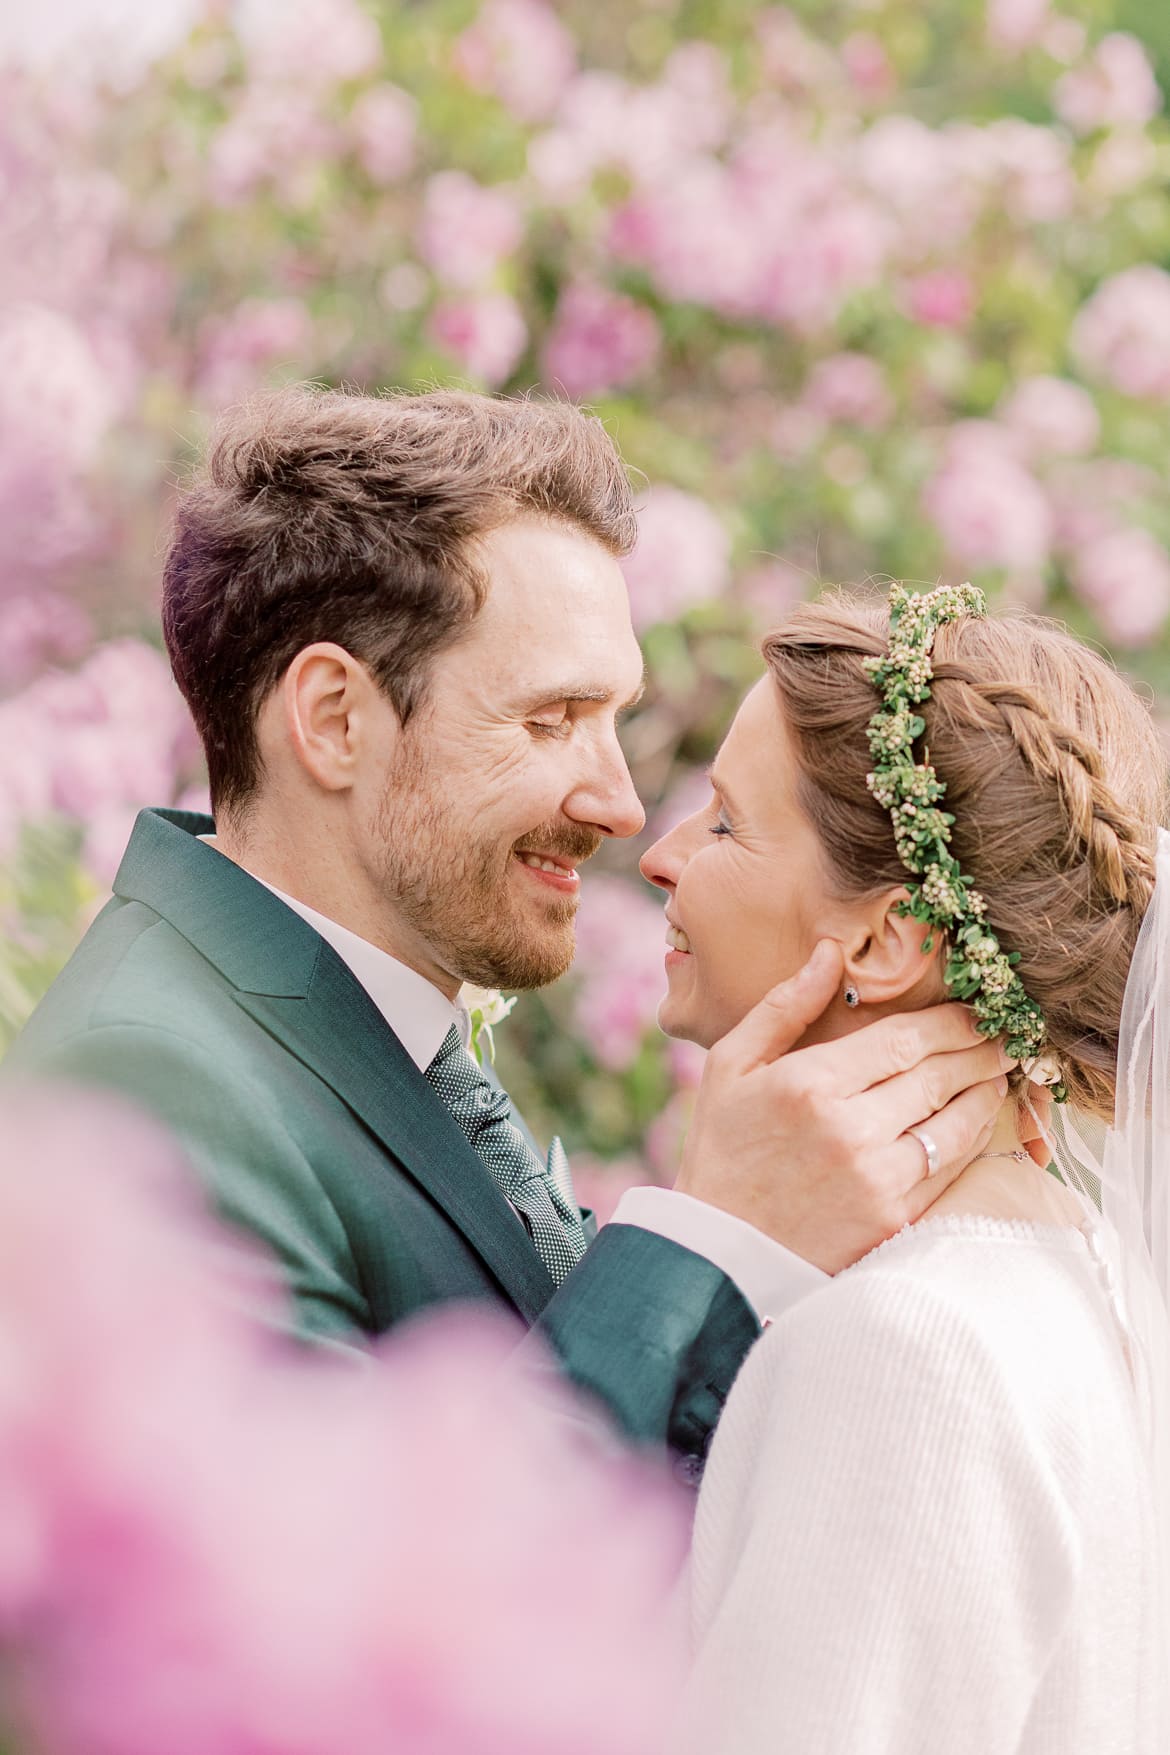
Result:
<svg viewBox="0 0 1170 1755"><path fill-rule="evenodd" d="M507 1092L484 1078L454 1025L426 1069L426 1079L519 1213L540 1260L560 1285L586 1251L581 1213L567 1188L558 1186L554 1169L537 1157L514 1125ZM560 1141L553 1146L561 1181L567 1183Z"/></svg>

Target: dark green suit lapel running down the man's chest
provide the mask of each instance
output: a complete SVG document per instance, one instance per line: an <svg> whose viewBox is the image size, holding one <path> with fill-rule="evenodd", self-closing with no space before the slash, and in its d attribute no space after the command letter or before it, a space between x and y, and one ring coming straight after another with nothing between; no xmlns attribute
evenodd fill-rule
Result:
<svg viewBox="0 0 1170 1755"><path fill-rule="evenodd" d="M210 818L144 811L116 893L146 902L225 974L237 1006L337 1092L535 1320L553 1278L482 1158L332 946L195 839L212 828Z"/></svg>

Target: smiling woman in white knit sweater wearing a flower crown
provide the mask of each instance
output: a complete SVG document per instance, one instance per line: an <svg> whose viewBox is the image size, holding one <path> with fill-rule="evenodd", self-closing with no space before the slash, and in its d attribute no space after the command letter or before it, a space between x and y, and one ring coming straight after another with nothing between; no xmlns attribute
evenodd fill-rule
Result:
<svg viewBox="0 0 1170 1755"><path fill-rule="evenodd" d="M845 985L809 1041L949 990L1023 1062L926 1220L781 1316L731 1392L695 1530L695 1750L1166 1748L1149 1337L1093 1202L1040 1167L1037 1100L1114 1116L1166 767L1102 658L981 611L970 588L795 611L710 804L642 862L670 897L668 1034L716 1042L833 937Z"/></svg>

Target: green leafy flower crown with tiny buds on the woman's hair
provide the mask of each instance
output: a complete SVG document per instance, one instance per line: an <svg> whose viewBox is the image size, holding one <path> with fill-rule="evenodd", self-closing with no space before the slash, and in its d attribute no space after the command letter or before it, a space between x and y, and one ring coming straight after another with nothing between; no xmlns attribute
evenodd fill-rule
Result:
<svg viewBox="0 0 1170 1755"><path fill-rule="evenodd" d="M1002 1035L1009 1055L1023 1064L1033 1083L1051 1085L1056 1100L1063 1102L1068 1092L1059 1064L1044 1055L1044 1013L1016 974L1019 953L1000 948L988 925L986 900L951 853L954 816L938 807L947 788L930 763L930 751L924 762L914 760L914 742L926 730L914 709L930 700L935 634L947 621L986 612L984 595L974 584L942 584L924 597L903 584L891 588L889 651L884 658L865 660L882 695L868 727L874 772L867 784L889 811L898 858L921 879L909 886L910 897L898 904L898 914L930 928L924 953L933 949L935 932L945 934L951 946L944 969L947 992L972 1006L982 1035Z"/></svg>

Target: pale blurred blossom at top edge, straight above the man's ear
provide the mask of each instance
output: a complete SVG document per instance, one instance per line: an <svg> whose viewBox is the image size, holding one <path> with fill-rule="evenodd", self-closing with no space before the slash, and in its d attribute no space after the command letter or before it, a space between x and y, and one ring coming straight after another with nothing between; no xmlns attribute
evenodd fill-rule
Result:
<svg viewBox="0 0 1170 1755"><path fill-rule="evenodd" d="M382 60L382 35L360 0L253 7L244 28L247 70L258 84L333 86L372 74Z"/></svg>

